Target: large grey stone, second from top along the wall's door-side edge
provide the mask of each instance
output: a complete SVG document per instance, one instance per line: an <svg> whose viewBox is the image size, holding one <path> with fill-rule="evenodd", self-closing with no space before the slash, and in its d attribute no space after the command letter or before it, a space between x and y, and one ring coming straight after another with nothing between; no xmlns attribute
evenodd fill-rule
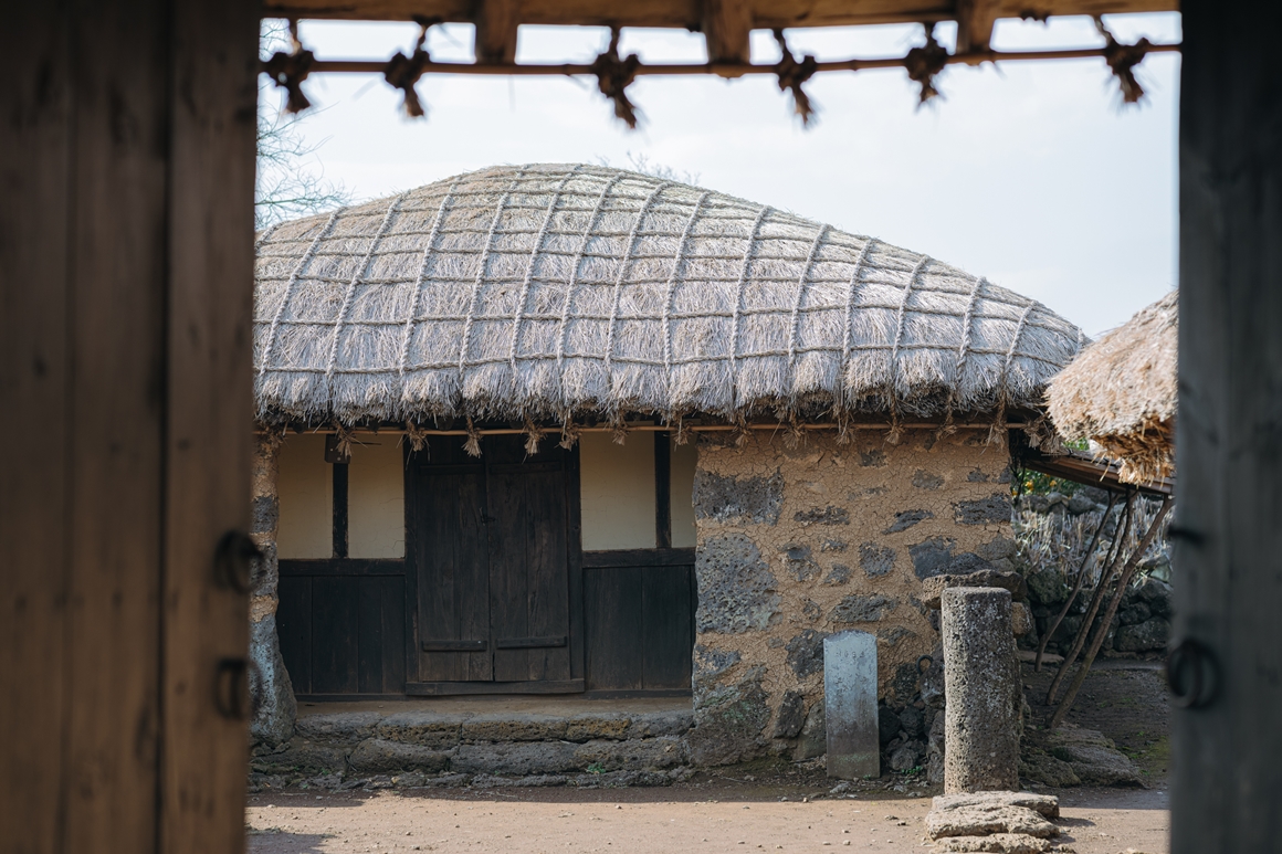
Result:
<svg viewBox="0 0 1282 854"><path fill-rule="evenodd" d="M738 635L763 630L782 601L778 582L756 545L742 533L709 537L695 558L696 630Z"/></svg>

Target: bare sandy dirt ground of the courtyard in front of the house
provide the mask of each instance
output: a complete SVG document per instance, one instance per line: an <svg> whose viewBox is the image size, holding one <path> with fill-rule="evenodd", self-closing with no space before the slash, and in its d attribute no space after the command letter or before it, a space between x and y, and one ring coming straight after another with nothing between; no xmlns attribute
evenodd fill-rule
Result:
<svg viewBox="0 0 1282 854"><path fill-rule="evenodd" d="M1146 772L1147 789L1063 789L1064 836L1078 854L1168 851L1167 700L1161 674L1137 662L1101 662L1069 721L1103 731ZM1053 671L1024 681L1035 721ZM888 778L887 778L888 780ZM922 819L937 794L904 777L829 795L817 763L755 763L699 773L663 789L290 790L250 795L253 854L438 851L605 854L754 850L868 853L927 846Z"/></svg>

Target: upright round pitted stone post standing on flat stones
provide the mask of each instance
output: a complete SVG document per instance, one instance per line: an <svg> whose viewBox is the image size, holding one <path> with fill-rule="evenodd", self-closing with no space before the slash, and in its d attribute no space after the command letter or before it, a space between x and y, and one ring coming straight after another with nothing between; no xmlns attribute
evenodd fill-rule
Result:
<svg viewBox="0 0 1282 854"><path fill-rule="evenodd" d="M1019 664L1010 591L942 594L944 792L1019 789Z"/></svg>

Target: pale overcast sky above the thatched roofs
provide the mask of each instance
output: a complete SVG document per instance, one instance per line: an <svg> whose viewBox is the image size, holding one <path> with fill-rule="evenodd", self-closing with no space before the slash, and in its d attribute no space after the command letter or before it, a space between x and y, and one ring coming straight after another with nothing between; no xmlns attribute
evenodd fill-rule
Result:
<svg viewBox="0 0 1282 854"><path fill-rule="evenodd" d="M1177 41L1177 14L1118 15L1123 41ZM955 28L941 24L951 46ZM412 24L304 22L323 59L383 59L409 50ZM522 27L519 62L590 62L608 33ZM788 31L794 53L819 59L899 56L922 44L913 26ZM1087 18L1001 22L994 46L1101 44ZM437 59L470 59L469 26L437 27ZM624 31L622 53L704 62L703 38ZM754 62L776 62L768 32ZM837 228L927 253L1046 303L1090 335L1124 322L1176 285L1176 121L1179 59L1150 55L1140 109L1120 108L1103 60L949 68L945 99L917 109L900 71L817 76L820 108L803 130L772 77L642 78L628 94L640 131L614 119L595 80L431 76L427 121L399 112L379 77L318 74L301 123L310 159L356 199L376 199L504 163L650 163L699 185ZM276 97L276 95L269 95Z"/></svg>

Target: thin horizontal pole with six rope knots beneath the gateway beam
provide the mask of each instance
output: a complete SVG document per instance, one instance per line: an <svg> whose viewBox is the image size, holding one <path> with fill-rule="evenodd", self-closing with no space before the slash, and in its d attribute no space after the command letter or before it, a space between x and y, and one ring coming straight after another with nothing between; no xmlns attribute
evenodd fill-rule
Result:
<svg viewBox="0 0 1282 854"><path fill-rule="evenodd" d="M601 92L614 105L614 115L636 130L640 118L636 105L628 99L627 88L637 77L650 74L719 74L728 77L742 77L745 74L773 74L778 82L779 91L792 94L794 113L800 117L803 127L809 127L817 113L810 97L803 90L803 83L817 73L822 72L855 72L878 68L903 68L910 80L920 86L918 104L926 104L940 95L935 81L938 74L951 64L978 65L991 62L1026 62L1038 59L1090 59L1101 58L1109 69L1118 78L1124 104L1136 104L1144 97L1144 87L1140 86L1135 76L1135 68L1144 62L1144 58L1153 53L1178 51L1181 45L1153 44L1147 38L1140 38L1133 45L1118 42L1111 32L1104 26L1100 17L1095 18L1096 27L1105 38L1103 47L1085 47L1069 50L1024 50L1024 51L999 51L999 50L970 50L963 54L949 53L935 38L935 24L923 24L926 29L926 44L910 49L904 56L887 59L842 59L819 62L813 55L806 55L800 62L792 54L783 37L783 31L774 29L774 37L779 45L779 62L764 64L733 64L733 63L664 63L646 64L640 56L629 54L619 56L620 29L612 27L609 46L601 51L590 64L560 63L560 64L529 64L529 63L458 63L437 62L424 49L429 22L417 19L420 27L418 40L413 51L405 55L400 51L388 60L318 60L310 50L303 47L297 36L297 21L290 21L288 53L277 51L271 58L259 63L260 71L272 78L278 87L286 91L285 109L288 113L301 113L312 106L303 92L303 81L314 73L377 73L383 80L403 92L403 108L412 118L426 117L422 101L414 90L415 83L429 73L436 74L508 74L508 76L587 76L596 78L597 91Z"/></svg>

